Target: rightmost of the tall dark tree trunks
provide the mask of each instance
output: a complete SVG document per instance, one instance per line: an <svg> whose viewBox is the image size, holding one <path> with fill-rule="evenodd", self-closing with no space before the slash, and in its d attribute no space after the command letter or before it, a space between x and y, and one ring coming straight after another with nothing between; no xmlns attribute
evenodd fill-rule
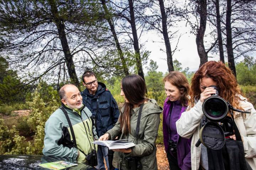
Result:
<svg viewBox="0 0 256 170"><path fill-rule="evenodd" d="M231 31L231 0L227 0L226 11L226 48L228 53L228 66L236 77L233 44L232 44L232 31Z"/></svg>

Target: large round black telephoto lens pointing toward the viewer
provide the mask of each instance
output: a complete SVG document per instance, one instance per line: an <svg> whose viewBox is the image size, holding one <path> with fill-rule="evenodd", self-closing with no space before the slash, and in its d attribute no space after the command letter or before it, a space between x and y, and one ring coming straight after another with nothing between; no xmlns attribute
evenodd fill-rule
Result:
<svg viewBox="0 0 256 170"><path fill-rule="evenodd" d="M203 102L203 113L211 121L221 121L225 119L229 111L228 103L219 96L219 91L216 86L216 94L213 94Z"/></svg>

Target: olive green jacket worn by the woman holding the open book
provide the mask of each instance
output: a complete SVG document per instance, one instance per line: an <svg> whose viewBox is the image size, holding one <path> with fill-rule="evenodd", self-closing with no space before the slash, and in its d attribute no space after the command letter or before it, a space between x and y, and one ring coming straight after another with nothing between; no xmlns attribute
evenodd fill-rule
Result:
<svg viewBox="0 0 256 170"><path fill-rule="evenodd" d="M121 109L121 114L124 108ZM132 147L132 152L125 154L122 152L114 152L113 166L119 170L126 170L124 158L127 156L139 157L143 170L158 169L156 162L156 137L158 136L158 128L160 124L160 113L162 108L158 106L154 99L150 99L144 104L142 115L140 118L140 129L138 137L138 145L136 145L136 126L139 114L139 107L132 109L130 118L130 133L129 135L121 134L120 139L132 139L135 144ZM120 114L120 116L121 116ZM120 123L117 121L116 125L107 131L113 140L120 132Z"/></svg>

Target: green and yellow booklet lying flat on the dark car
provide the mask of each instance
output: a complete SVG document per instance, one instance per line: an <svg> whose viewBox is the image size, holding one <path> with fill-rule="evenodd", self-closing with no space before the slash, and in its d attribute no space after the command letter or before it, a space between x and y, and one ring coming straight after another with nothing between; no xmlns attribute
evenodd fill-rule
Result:
<svg viewBox="0 0 256 170"><path fill-rule="evenodd" d="M73 164L70 162L65 162L65 161L57 161L57 162L49 162L45 164L40 164L39 166L47 169L52 169L52 170L61 170L65 168L69 168L71 166L76 166L78 164Z"/></svg>

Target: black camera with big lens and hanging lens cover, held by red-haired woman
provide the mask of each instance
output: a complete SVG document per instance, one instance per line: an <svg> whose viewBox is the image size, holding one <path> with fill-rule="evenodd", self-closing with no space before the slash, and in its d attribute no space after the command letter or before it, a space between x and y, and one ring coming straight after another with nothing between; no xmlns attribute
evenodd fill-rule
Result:
<svg viewBox="0 0 256 170"><path fill-rule="evenodd" d="M233 111L240 113L250 112L234 108L219 96L219 90L216 86L210 87L213 87L216 93L203 102L202 109L207 120L199 131L199 140L196 143L196 147L202 143L208 149L219 150L225 145L226 140L230 140L229 136L234 134ZM227 116L229 111L232 118Z"/></svg>

